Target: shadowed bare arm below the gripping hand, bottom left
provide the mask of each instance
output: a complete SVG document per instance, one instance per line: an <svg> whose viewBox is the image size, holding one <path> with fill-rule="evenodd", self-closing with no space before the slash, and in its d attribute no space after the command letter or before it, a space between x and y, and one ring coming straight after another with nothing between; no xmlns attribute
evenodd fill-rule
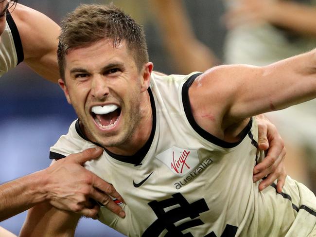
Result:
<svg viewBox="0 0 316 237"><path fill-rule="evenodd" d="M40 203L28 211L19 237L73 237L79 219L80 214Z"/></svg>

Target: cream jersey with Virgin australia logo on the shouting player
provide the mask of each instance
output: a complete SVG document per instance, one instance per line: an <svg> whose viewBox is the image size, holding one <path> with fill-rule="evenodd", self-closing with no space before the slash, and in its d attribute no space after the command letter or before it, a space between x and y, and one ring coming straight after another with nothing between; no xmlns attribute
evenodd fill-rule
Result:
<svg viewBox="0 0 316 237"><path fill-rule="evenodd" d="M104 207L99 220L127 236L304 237L316 224L316 198L287 177L258 192L252 170L258 162L257 125L251 119L242 139L224 142L194 121L188 89L198 74L152 74L150 139L134 156L105 150L86 167L122 195L121 219ZM211 101L210 101L211 103ZM51 147L51 158L95 146L74 121Z"/></svg>

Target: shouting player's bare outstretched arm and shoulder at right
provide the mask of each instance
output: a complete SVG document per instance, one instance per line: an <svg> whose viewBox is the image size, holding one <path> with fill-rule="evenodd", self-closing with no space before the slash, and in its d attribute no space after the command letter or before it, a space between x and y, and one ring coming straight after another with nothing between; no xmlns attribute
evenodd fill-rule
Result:
<svg viewBox="0 0 316 237"><path fill-rule="evenodd" d="M236 141L246 118L314 98L315 52L266 67L223 65L208 70L189 89L196 122L221 139Z"/></svg>

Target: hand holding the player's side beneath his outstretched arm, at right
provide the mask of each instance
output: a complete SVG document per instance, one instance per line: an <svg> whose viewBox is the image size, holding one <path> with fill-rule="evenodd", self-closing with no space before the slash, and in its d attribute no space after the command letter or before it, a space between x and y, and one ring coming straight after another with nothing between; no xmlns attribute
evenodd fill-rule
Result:
<svg viewBox="0 0 316 237"><path fill-rule="evenodd" d="M258 123L258 147L260 150L267 151L267 156L254 167L253 182L266 177L259 184L259 191L262 191L278 179L277 191L281 193L286 178L283 164L286 154L284 142L277 128L263 114L257 115L256 120Z"/></svg>

